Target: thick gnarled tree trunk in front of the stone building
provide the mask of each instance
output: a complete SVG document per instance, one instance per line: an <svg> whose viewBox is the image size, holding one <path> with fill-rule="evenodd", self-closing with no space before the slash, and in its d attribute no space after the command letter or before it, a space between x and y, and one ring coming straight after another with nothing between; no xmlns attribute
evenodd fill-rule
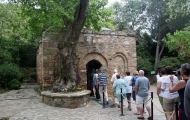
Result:
<svg viewBox="0 0 190 120"><path fill-rule="evenodd" d="M80 77L77 64L74 63L74 60L77 60L75 48L86 19L88 3L89 0L79 0L73 21L68 20L66 16L62 16L65 28L60 36L63 42L58 45L61 59L61 75L54 82L54 87L76 88L79 84Z"/></svg>

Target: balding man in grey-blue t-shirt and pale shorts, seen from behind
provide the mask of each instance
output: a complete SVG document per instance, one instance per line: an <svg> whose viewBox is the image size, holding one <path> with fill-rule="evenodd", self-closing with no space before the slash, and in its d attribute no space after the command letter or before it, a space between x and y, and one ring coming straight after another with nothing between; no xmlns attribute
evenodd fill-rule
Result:
<svg viewBox="0 0 190 120"><path fill-rule="evenodd" d="M144 76L144 71L139 71L139 77L136 80L135 83L135 93L136 93L136 106L138 111L140 111L140 117L138 119L144 119L143 116L143 104L146 106L146 109L148 111L149 117L148 119L151 119L150 115L150 105L148 104L148 95L149 95L149 89L150 89L150 82L147 77Z"/></svg>

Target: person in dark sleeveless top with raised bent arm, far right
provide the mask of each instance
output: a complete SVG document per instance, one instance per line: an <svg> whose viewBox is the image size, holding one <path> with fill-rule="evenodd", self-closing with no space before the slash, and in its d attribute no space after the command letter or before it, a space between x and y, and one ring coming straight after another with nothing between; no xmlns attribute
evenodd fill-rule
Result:
<svg viewBox="0 0 190 120"><path fill-rule="evenodd" d="M169 91L171 93L178 91L180 97L180 105L179 105L179 120L188 120L186 114L184 112L184 90L187 83L187 80L190 77L190 64L185 63L181 65L180 73L178 74L182 77L178 83L173 85L173 76L170 76L170 88Z"/></svg>

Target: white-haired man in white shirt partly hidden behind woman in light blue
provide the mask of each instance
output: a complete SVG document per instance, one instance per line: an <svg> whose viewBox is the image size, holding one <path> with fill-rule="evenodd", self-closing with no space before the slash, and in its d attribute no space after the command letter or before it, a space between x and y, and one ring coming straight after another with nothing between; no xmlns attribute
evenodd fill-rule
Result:
<svg viewBox="0 0 190 120"><path fill-rule="evenodd" d="M116 77L116 75L118 74L117 73L117 69L114 69L114 74L112 75L112 77L111 77L111 84L113 85L113 83L117 80L117 77ZM112 86L113 87L113 86ZM115 90L113 89L112 90L112 100L113 100L113 104L111 105L111 107L115 107L115 97L116 97L116 95L115 95Z"/></svg>

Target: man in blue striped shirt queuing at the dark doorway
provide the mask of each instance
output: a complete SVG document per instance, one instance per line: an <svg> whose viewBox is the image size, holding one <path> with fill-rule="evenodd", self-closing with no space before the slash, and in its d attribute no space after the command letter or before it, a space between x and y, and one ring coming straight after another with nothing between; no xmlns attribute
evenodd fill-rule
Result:
<svg viewBox="0 0 190 120"><path fill-rule="evenodd" d="M99 83L99 93L100 93L100 103L103 103L103 92L106 99L106 104L108 104L108 93L107 93L107 75L103 71L103 67L100 68L100 73L98 74Z"/></svg>

